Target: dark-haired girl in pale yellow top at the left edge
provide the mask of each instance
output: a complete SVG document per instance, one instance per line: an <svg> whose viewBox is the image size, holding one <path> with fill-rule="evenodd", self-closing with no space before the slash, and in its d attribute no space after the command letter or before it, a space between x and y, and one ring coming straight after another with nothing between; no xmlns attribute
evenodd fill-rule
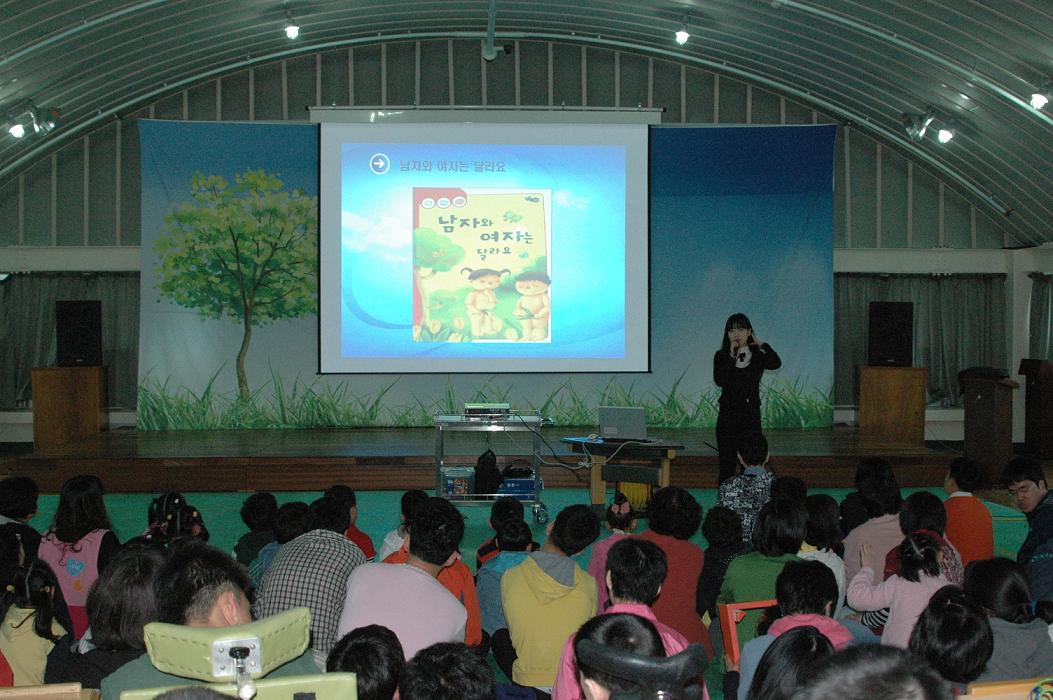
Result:
<svg viewBox="0 0 1053 700"><path fill-rule="evenodd" d="M0 592L0 653L11 664L16 686L44 682L47 655L65 634L52 607L57 587L51 567L31 559Z"/></svg>

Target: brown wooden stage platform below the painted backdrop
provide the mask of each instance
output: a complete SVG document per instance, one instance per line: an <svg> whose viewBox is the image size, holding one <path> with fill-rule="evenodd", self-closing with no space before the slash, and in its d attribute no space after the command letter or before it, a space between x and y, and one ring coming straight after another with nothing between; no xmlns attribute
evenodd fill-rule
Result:
<svg viewBox="0 0 1053 700"><path fill-rule="evenodd" d="M592 429L541 429L545 487L588 483L585 471L573 471L581 456L559 440ZM713 431L653 431L652 435L684 445L673 461L673 484L716 486L716 452L710 446L716 444ZM856 463L871 456L888 458L903 486L938 486L948 463L958 454L932 443L877 443L843 425L772 431L767 436L771 468L779 475L800 477L816 487L851 486ZM362 491L432 488L435 437L431 428L121 429L14 458L0 463L0 474L32 476L45 493L57 492L76 474L98 475L111 493L320 491L334 483ZM497 453L501 464L529 460L532 439L530 433L448 432L446 464L475 464L488 446Z"/></svg>

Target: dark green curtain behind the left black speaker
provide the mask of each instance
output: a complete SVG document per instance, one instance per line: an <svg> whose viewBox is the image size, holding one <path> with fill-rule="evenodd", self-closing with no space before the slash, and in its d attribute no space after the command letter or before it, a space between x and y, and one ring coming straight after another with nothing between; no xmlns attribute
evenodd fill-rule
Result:
<svg viewBox="0 0 1053 700"><path fill-rule="evenodd" d="M0 282L0 408L32 398L31 371L55 364L55 302L102 302L107 405L133 409L139 373L138 273L14 274Z"/></svg>

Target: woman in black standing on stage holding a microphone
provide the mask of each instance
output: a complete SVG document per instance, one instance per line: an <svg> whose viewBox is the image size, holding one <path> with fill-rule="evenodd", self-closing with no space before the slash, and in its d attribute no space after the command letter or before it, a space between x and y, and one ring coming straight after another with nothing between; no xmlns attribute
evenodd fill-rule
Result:
<svg viewBox="0 0 1053 700"><path fill-rule="evenodd" d="M733 314L724 323L723 341L713 357L713 382L720 387L718 484L735 475L742 434L760 429L760 375L780 366L782 360L771 345L757 339L750 319L744 314Z"/></svg>

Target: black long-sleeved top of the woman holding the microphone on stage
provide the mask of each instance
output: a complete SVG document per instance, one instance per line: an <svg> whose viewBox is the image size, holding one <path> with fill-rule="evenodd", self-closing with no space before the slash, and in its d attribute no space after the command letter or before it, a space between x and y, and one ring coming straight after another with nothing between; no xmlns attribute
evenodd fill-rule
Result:
<svg viewBox="0 0 1053 700"><path fill-rule="evenodd" d="M713 383L720 387L718 431L760 429L760 375L778 369L782 360L768 343L751 345L750 352L746 367L736 367L735 358L723 351L713 357Z"/></svg>

